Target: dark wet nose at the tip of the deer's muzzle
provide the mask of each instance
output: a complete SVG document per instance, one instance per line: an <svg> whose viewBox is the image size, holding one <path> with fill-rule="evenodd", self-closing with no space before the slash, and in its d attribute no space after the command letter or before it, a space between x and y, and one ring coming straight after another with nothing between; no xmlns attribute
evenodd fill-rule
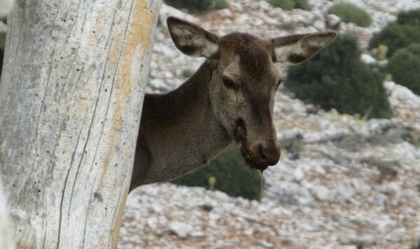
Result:
<svg viewBox="0 0 420 249"><path fill-rule="evenodd" d="M276 165L280 160L280 144L263 144L257 143L252 149L255 155L255 163L257 165Z"/></svg>

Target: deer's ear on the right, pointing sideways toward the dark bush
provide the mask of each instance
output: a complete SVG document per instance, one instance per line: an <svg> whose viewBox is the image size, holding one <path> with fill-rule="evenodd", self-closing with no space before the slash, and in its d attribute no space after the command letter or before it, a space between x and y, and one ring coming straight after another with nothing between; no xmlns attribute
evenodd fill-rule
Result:
<svg viewBox="0 0 420 249"><path fill-rule="evenodd" d="M273 61L288 66L302 63L330 44L335 36L337 32L325 31L274 38L271 40Z"/></svg>

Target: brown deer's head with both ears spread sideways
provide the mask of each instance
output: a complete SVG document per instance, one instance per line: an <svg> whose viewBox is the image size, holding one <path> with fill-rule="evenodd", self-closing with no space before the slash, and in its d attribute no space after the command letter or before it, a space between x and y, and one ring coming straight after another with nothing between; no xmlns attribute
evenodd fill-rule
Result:
<svg viewBox="0 0 420 249"><path fill-rule="evenodd" d="M274 63L302 63L328 45L336 32L262 40L247 33L219 37L176 17L169 17L167 24L181 52L207 58L212 68L208 87L214 114L239 144L246 163L261 171L276 165L281 150L272 116L283 76Z"/></svg>

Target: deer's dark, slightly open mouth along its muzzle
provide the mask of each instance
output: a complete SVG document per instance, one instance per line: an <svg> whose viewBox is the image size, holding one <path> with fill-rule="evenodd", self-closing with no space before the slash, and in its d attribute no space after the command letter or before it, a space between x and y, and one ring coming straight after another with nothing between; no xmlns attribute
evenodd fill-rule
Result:
<svg viewBox="0 0 420 249"><path fill-rule="evenodd" d="M269 165L259 165L255 163L256 156L255 154L249 149L249 143L246 132L246 125L243 119L237 119L235 121L235 141L239 144L239 149L241 150L241 155L245 160L245 163L252 167L253 169L260 169L260 171L264 171L267 169Z"/></svg>

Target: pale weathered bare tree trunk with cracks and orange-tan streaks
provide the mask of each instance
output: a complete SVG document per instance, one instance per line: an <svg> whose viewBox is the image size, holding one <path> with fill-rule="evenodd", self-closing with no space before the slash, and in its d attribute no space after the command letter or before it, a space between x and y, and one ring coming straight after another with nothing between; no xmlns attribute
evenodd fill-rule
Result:
<svg viewBox="0 0 420 249"><path fill-rule="evenodd" d="M0 170L20 248L116 248L162 0L20 0Z"/></svg>

